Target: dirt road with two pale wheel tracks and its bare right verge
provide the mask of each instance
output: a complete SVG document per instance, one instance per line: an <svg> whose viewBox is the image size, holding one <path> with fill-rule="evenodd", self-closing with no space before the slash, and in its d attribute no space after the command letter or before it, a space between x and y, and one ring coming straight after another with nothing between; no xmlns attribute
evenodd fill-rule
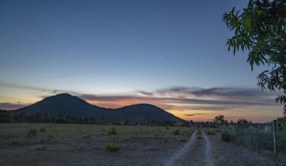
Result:
<svg viewBox="0 0 286 166"><path fill-rule="evenodd" d="M166 166L192 165L192 166L215 166L215 165L286 165L271 157L263 156L251 149L236 145L232 142L221 141L220 133L206 135L202 130L194 132L188 143L174 153L164 164Z"/></svg>

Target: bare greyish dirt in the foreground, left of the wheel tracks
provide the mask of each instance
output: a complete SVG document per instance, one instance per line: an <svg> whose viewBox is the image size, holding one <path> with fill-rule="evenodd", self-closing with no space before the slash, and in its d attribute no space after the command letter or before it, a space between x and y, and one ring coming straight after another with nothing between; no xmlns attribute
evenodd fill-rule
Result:
<svg viewBox="0 0 286 166"><path fill-rule="evenodd" d="M57 145L42 145L46 147L43 150L36 150L36 146L0 149L0 165L163 165L186 142L169 140L165 143L162 140L152 140L117 144L120 146L119 151L106 150L103 143L66 150L57 148Z"/></svg>

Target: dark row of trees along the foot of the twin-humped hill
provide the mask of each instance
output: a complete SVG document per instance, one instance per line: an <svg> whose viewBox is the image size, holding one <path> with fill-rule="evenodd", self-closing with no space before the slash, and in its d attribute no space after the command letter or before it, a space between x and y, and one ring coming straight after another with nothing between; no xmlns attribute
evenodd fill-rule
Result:
<svg viewBox="0 0 286 166"><path fill-rule="evenodd" d="M93 124L93 125L141 125L141 126L170 126L174 127L176 121L171 120L142 120L131 121L125 120L122 122L111 121L108 117L96 117L91 114L88 117L67 115L59 113L58 116L46 112L28 113L25 111L11 113L9 111L0 110L0 123L58 123L58 124Z"/></svg>

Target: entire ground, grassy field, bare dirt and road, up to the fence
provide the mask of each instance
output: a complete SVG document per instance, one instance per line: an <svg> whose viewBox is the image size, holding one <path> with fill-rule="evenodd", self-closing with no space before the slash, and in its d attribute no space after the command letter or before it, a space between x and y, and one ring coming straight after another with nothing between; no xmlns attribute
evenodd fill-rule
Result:
<svg viewBox="0 0 286 166"><path fill-rule="evenodd" d="M29 127L37 134L27 136ZM0 165L286 165L246 147L223 142L220 133L180 127L0 124ZM46 129L39 132L40 128ZM173 132L178 129L180 135ZM53 138L46 135L54 134ZM198 139L201 138L201 139ZM118 151L104 147L119 146Z"/></svg>

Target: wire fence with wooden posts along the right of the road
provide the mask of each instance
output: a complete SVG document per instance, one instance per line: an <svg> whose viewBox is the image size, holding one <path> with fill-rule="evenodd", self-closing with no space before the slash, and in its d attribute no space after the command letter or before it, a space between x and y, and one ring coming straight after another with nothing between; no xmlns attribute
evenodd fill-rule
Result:
<svg viewBox="0 0 286 166"><path fill-rule="evenodd" d="M274 131L273 131L274 128ZM233 124L225 125L233 140L253 150L267 150L274 154L286 154L286 127L278 124Z"/></svg>

